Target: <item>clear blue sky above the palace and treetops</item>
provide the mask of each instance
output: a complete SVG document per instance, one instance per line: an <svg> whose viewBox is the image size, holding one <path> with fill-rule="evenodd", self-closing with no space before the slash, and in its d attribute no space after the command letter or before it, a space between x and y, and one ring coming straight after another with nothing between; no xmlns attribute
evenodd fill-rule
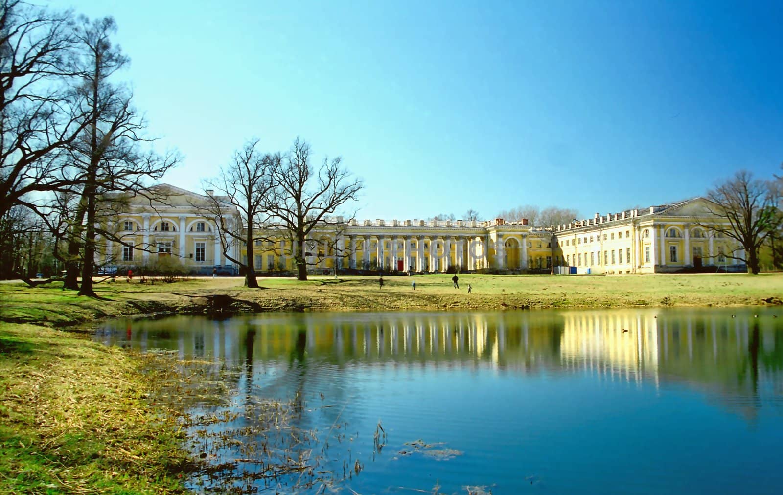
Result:
<svg viewBox="0 0 783 495"><path fill-rule="evenodd" d="M783 2L54 0L117 20L150 135L189 190L307 139L359 218L583 217L783 161Z"/></svg>

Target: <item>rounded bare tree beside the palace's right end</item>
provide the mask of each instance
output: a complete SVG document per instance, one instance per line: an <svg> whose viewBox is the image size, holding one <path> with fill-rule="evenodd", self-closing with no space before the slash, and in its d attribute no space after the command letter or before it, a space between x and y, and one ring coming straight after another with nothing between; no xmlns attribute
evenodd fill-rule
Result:
<svg viewBox="0 0 783 495"><path fill-rule="evenodd" d="M781 226L778 198L770 181L753 179L750 172L741 170L734 177L715 186L707 193L713 202L709 212L727 220L727 225L699 223L705 229L737 240L745 250L749 273L758 274L759 248L771 232ZM742 257L727 255L729 258Z"/></svg>

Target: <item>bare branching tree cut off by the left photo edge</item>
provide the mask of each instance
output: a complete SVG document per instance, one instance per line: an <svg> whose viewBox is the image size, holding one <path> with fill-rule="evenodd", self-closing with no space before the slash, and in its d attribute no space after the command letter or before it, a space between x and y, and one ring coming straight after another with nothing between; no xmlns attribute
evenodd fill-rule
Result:
<svg viewBox="0 0 783 495"><path fill-rule="evenodd" d="M88 125L67 93L72 23L70 13L0 0L0 216L68 187L60 154Z"/></svg>

